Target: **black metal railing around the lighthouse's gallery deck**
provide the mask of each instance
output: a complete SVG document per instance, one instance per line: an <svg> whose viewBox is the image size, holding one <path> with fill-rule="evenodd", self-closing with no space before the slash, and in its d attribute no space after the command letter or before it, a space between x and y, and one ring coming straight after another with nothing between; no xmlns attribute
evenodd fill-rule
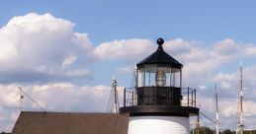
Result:
<svg viewBox="0 0 256 134"><path fill-rule="evenodd" d="M170 89L171 90L171 89ZM182 88L181 98L178 105L196 107L197 90L191 88ZM147 100L147 103L141 104L138 101ZM177 101L177 98L168 98L160 96L140 96L138 99L137 91L135 88L128 88L124 90L124 106L135 106L135 105L177 105L173 103L173 99Z"/></svg>

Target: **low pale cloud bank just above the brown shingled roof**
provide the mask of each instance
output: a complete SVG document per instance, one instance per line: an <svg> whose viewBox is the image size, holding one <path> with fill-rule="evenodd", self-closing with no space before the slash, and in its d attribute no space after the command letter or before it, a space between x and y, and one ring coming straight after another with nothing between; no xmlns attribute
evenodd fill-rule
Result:
<svg viewBox="0 0 256 134"><path fill-rule="evenodd" d="M75 86L71 83L49 83L23 87L23 91L47 111L66 112L106 112L111 89L104 85ZM118 87L121 102L123 89L123 87ZM18 85L0 85L0 96L2 97L0 98L0 130L11 131L20 112ZM23 110L41 109L24 95Z"/></svg>

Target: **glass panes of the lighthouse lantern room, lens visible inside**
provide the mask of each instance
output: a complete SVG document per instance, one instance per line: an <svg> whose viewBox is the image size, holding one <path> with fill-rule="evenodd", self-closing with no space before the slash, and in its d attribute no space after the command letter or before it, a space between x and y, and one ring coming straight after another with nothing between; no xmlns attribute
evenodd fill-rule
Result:
<svg viewBox="0 0 256 134"><path fill-rule="evenodd" d="M138 69L139 87L181 87L181 69L148 65Z"/></svg>

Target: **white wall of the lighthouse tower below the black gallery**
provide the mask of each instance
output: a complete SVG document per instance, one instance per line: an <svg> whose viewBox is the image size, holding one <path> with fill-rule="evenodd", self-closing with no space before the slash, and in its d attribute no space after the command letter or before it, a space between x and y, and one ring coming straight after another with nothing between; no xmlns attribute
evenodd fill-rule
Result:
<svg viewBox="0 0 256 134"><path fill-rule="evenodd" d="M190 134L189 117L129 117L128 134Z"/></svg>

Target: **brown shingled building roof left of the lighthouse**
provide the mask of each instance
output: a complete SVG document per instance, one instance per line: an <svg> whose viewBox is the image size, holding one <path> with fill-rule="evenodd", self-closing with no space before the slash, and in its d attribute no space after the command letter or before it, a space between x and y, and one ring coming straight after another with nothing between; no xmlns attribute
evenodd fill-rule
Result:
<svg viewBox="0 0 256 134"><path fill-rule="evenodd" d="M12 134L127 134L128 114L22 111Z"/></svg>

